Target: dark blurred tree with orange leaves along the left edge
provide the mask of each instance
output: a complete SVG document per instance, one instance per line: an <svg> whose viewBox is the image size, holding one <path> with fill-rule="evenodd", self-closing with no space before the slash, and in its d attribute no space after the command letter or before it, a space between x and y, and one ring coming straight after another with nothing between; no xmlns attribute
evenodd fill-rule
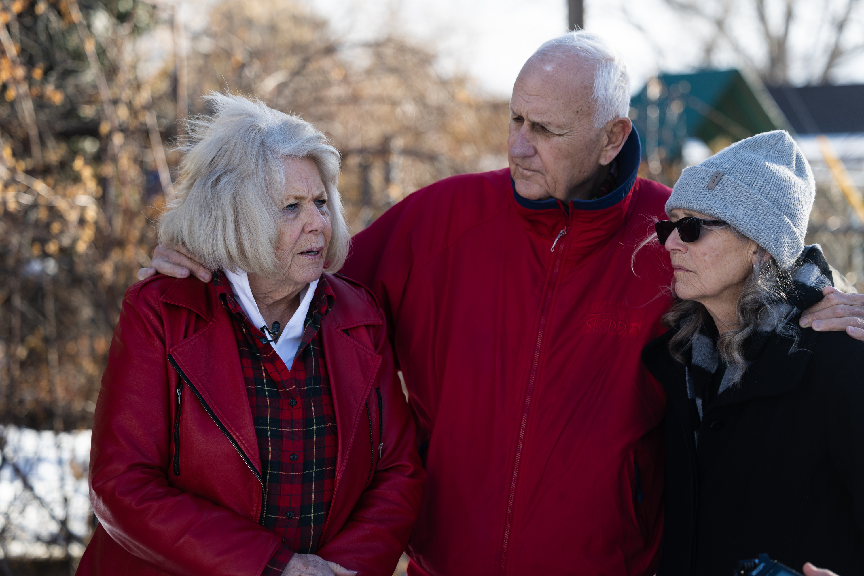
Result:
<svg viewBox="0 0 864 576"><path fill-rule="evenodd" d="M0 415L60 431L89 421L149 252L146 118L170 82L137 77L149 4L3 0L0 19Z"/></svg>

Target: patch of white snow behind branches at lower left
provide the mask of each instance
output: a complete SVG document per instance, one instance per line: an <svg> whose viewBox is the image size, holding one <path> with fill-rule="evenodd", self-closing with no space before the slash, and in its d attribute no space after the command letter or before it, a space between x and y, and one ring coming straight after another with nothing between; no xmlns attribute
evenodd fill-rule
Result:
<svg viewBox="0 0 864 576"><path fill-rule="evenodd" d="M90 430L0 426L0 551L5 556L84 554L92 529L87 492Z"/></svg>

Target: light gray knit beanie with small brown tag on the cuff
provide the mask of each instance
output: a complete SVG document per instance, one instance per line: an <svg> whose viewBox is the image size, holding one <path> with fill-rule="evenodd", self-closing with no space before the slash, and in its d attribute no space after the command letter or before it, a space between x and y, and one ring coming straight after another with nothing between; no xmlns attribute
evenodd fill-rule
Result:
<svg viewBox="0 0 864 576"><path fill-rule="evenodd" d="M816 182L785 130L735 142L685 168L666 202L728 222L789 268L804 250Z"/></svg>

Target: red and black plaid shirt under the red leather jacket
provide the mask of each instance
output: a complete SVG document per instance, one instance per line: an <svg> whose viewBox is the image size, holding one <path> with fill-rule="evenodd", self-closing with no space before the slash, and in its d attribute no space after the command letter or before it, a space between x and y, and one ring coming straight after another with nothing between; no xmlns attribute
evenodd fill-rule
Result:
<svg viewBox="0 0 864 576"><path fill-rule="evenodd" d="M213 282L234 319L263 469L264 526L283 535L283 548L263 576L278 576L293 553L314 553L333 500L336 416L319 331L334 293L321 276L288 370L264 333L252 326L226 278L217 273Z"/></svg>

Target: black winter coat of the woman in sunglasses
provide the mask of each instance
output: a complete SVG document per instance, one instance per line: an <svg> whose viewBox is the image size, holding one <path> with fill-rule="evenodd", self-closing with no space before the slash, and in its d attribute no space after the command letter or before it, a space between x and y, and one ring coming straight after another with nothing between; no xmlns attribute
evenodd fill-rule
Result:
<svg viewBox="0 0 864 576"><path fill-rule="evenodd" d="M697 448L671 336L642 352L669 397L658 576L729 576L759 553L864 574L864 342L808 328L789 355L772 333L739 386L704 407Z"/></svg>

